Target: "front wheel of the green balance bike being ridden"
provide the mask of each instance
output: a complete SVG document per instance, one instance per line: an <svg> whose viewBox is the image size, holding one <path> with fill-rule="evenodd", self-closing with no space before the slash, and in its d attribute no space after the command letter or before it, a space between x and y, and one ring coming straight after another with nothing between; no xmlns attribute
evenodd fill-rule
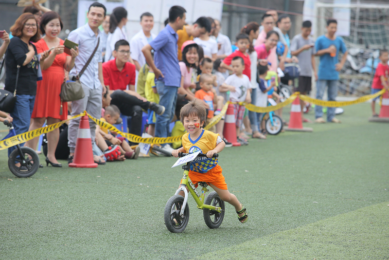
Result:
<svg viewBox="0 0 389 260"><path fill-rule="evenodd" d="M185 230L186 225L189 222L189 206L185 205L184 216L180 216L179 213L182 208L184 197L181 195L172 196L165 205L165 211L163 214L165 225L167 229L172 233L180 233Z"/></svg>

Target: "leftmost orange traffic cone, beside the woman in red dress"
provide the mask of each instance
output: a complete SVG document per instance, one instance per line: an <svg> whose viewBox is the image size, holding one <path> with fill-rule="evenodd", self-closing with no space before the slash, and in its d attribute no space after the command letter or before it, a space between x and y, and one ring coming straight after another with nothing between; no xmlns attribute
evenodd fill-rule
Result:
<svg viewBox="0 0 389 260"><path fill-rule="evenodd" d="M76 149L74 150L73 162L69 167L96 168L93 161L92 140L90 138L88 115L81 117L78 128Z"/></svg>

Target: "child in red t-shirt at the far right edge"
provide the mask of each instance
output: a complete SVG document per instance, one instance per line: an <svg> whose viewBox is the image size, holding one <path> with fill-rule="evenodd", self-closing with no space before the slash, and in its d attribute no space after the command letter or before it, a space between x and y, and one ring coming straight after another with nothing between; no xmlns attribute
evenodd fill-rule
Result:
<svg viewBox="0 0 389 260"><path fill-rule="evenodd" d="M388 91L388 78L389 78L389 51L388 50L380 50L380 63L378 63L377 68L375 69L375 74L373 78L373 83L371 84L371 93L377 93L385 88ZM373 116L378 116L375 113L375 100L377 100L378 96L371 101L371 110L373 112Z"/></svg>

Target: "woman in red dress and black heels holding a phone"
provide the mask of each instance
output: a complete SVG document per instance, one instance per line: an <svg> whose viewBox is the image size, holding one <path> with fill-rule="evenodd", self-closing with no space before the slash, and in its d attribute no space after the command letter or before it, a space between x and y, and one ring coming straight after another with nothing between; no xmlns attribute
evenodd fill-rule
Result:
<svg viewBox="0 0 389 260"><path fill-rule="evenodd" d="M45 34L35 43L37 53L46 50L51 51L42 66L42 78L38 81L34 111L30 131L41 128L45 120L51 125L68 118L67 102L61 102L59 94L65 78L65 70L68 72L74 66L74 58L78 55L78 49L71 49L71 56L64 53L64 41L58 37L63 24L59 15L55 12L47 12L42 16L40 26L41 33ZM62 167L55 158L55 149L58 144L59 129L47 133L47 165ZM36 149L38 137L27 142L27 146Z"/></svg>

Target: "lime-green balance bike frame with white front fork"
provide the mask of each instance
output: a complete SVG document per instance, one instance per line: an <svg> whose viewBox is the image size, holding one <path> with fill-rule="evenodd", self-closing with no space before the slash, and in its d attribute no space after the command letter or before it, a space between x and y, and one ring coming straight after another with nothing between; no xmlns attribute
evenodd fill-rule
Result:
<svg viewBox="0 0 389 260"><path fill-rule="evenodd" d="M197 204L197 208L199 208L199 209L208 208L208 209L215 210L215 211L220 213L222 211L221 207L215 207L212 205L204 204L205 193L207 191L209 191L209 189L207 189L206 187L203 187L201 189L201 195L198 193L195 185L192 183L191 179L189 178L190 162L186 163L186 165L182 166L182 168L184 169L184 176L182 177L180 187L177 189L176 194L175 194L175 195L178 195L178 193L181 190L184 191L184 193L185 193L184 202L182 203L181 211L179 213L180 216L184 216L184 209L185 209L186 203L188 202L188 190L186 188L189 189L189 192L192 194L193 198L195 199L195 202Z"/></svg>

